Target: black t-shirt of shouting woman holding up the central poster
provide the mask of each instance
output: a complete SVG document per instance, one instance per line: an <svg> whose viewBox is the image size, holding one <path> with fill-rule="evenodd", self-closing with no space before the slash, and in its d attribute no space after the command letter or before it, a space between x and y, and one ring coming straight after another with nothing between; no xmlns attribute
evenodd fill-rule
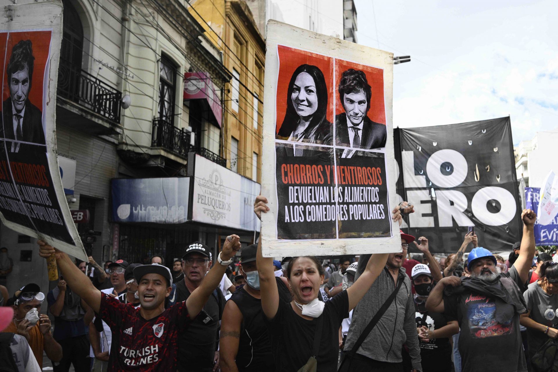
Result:
<svg viewBox="0 0 558 372"><path fill-rule="evenodd" d="M337 370L339 351L339 327L344 318L349 317L349 297L347 291L336 294L325 303L323 330L318 355L319 372ZM306 320L299 316L290 303L279 301L277 314L267 320L271 337L271 348L277 372L296 372L312 356L316 319Z"/></svg>

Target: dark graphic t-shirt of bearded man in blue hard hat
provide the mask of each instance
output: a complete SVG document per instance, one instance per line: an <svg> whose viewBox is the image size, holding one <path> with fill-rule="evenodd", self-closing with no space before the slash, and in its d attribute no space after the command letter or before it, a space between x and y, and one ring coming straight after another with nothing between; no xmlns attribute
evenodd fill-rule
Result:
<svg viewBox="0 0 558 372"><path fill-rule="evenodd" d="M501 276L509 277L522 288L515 267ZM445 315L455 317L461 328L461 371L527 371L517 313L506 323L499 323L494 298L470 291L444 296L444 306Z"/></svg>

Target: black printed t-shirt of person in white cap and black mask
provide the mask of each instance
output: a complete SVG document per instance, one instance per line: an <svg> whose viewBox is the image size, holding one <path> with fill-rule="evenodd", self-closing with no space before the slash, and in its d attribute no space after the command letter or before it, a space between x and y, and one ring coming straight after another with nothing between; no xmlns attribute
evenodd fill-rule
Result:
<svg viewBox="0 0 558 372"><path fill-rule="evenodd" d="M455 320L444 313L426 311L425 302L415 302L415 318L417 328L425 326L434 331L448 325ZM451 344L450 339L436 339L435 341L419 341L422 368L429 371L451 370Z"/></svg>

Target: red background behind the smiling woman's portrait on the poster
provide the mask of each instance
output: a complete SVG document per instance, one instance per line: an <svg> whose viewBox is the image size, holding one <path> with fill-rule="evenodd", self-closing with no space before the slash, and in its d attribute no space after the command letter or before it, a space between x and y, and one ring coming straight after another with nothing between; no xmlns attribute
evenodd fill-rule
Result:
<svg viewBox="0 0 558 372"><path fill-rule="evenodd" d="M324 74L325 84L328 87L328 113L326 119L333 123L333 58L300 49L278 45L279 78L277 79L277 117L276 133L279 132L285 112L287 110L287 89L291 76L300 65L308 64L318 67Z"/></svg>

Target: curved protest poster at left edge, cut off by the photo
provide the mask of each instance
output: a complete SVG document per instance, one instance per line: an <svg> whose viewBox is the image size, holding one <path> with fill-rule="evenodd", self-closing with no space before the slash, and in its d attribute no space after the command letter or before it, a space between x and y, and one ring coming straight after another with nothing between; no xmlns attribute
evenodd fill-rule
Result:
<svg viewBox="0 0 558 372"><path fill-rule="evenodd" d="M87 259L56 156L60 1L2 7L0 218L8 228Z"/></svg>

